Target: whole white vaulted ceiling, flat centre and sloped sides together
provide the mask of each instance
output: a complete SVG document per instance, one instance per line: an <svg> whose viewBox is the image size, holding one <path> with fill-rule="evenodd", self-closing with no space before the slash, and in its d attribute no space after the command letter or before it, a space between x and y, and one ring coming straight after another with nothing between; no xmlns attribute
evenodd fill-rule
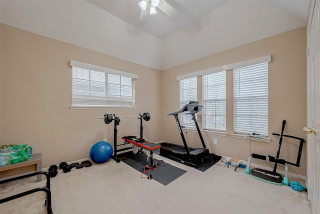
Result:
<svg viewBox="0 0 320 214"><path fill-rule="evenodd" d="M157 9L138 25L138 2L0 0L0 21L163 70L305 26L309 4L309 0L167 0L181 14L178 21Z"/></svg>

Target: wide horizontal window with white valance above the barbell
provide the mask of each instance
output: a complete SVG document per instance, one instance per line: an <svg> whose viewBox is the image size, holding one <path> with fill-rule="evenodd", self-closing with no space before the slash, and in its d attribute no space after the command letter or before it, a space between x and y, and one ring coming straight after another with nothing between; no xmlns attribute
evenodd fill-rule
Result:
<svg viewBox="0 0 320 214"><path fill-rule="evenodd" d="M70 65L72 105L125 107L134 105L133 77L137 78L137 75L73 60L70 61Z"/></svg>

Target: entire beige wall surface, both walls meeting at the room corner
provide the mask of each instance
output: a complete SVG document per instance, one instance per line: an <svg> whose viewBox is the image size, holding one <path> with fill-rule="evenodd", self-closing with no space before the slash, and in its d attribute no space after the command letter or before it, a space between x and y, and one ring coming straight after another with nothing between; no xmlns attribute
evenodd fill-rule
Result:
<svg viewBox="0 0 320 214"><path fill-rule="evenodd" d="M150 112L151 119L143 123L144 138L182 144L174 117L166 115L179 109L176 76L268 54L272 55L269 62L271 142L252 141L251 151L276 155L278 137L272 133L280 132L282 119L287 121L285 134L306 138L302 132L306 124L304 27L159 71L4 24L0 26L0 143L30 144L34 153L42 153L43 167L86 158L91 145L103 138L113 143L113 123L106 125L97 119L105 112L117 116ZM137 109L70 110L70 59L138 74ZM232 70L226 75L228 136L203 133L203 138L210 152L246 160L248 140L230 135L233 133ZM198 80L201 82L200 76ZM199 93L202 102L200 96ZM198 122L201 125L201 113ZM128 134L139 135L137 119L121 118L118 141ZM188 131L185 137L189 146L201 147L195 132ZM216 145L213 138L217 138ZM297 145L296 141L284 142L280 158L295 162ZM305 155L303 149L302 167L291 166L289 172L305 175ZM273 166L267 161L252 162ZM278 168L283 170L282 165Z"/></svg>

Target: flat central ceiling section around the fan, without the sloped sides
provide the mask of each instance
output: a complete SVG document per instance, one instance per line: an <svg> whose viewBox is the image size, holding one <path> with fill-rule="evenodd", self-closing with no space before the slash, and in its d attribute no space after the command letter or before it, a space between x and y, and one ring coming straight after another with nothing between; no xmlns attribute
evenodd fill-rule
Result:
<svg viewBox="0 0 320 214"><path fill-rule="evenodd" d="M161 9L157 14L148 15L144 25L138 25L137 20L141 9L140 0L88 0L108 13L142 29L143 31L163 39L196 21L199 17L215 10L229 0L166 0L182 16L178 21L170 19Z"/></svg>

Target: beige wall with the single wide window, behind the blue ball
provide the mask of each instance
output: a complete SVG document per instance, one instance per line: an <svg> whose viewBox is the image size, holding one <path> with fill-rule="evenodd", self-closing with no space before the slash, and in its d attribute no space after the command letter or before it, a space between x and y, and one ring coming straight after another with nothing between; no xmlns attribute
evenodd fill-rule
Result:
<svg viewBox="0 0 320 214"><path fill-rule="evenodd" d="M42 153L42 166L89 156L91 146L107 138L113 144L113 122L105 112L135 116L149 112L143 136L159 141L161 71L120 60L4 24L1 45L1 144L28 143ZM70 110L70 59L138 74L135 110ZM118 142L124 135L139 136L139 120L121 118Z"/></svg>

